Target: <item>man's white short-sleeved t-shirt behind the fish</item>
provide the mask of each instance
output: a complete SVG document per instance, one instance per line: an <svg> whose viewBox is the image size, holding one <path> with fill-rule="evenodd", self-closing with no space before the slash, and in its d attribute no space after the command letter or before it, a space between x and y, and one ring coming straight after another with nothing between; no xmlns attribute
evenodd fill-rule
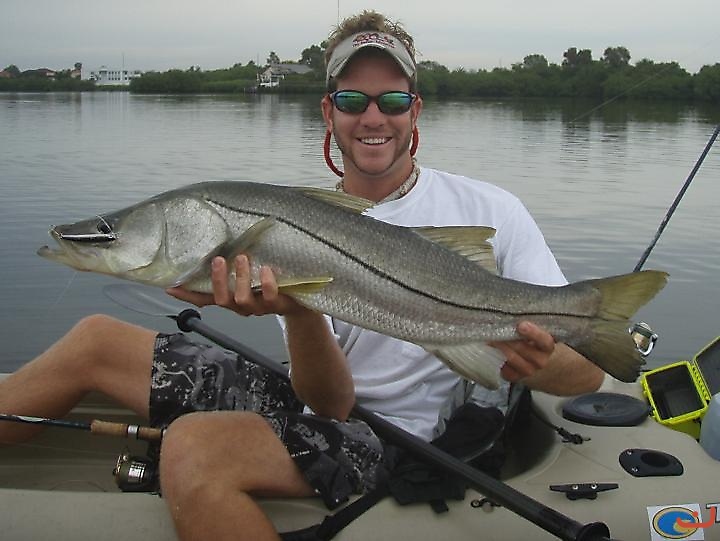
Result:
<svg viewBox="0 0 720 541"><path fill-rule="evenodd" d="M486 182L421 168L413 189L367 214L402 226L482 225L495 228L491 240L498 272L542 285L567 283L542 233L520 200ZM460 377L420 346L328 318L347 357L361 406L430 440L439 414ZM507 385L475 393L481 405L502 407Z"/></svg>

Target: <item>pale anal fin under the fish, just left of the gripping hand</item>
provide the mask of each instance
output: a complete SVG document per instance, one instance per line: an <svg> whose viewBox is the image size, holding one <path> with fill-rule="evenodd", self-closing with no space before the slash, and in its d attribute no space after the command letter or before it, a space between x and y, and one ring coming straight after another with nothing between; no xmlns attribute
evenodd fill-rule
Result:
<svg viewBox="0 0 720 541"><path fill-rule="evenodd" d="M500 368L505 355L485 342L455 346L425 347L451 370L488 389L500 386Z"/></svg>

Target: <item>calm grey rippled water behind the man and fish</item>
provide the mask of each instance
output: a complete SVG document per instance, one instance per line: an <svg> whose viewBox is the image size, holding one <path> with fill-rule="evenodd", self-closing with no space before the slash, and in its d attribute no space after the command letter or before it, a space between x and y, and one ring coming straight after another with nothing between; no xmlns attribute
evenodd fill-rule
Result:
<svg viewBox="0 0 720 541"><path fill-rule="evenodd" d="M139 316L101 293L113 280L35 255L48 227L202 180L330 187L318 97L0 94L0 371L41 352L83 315ZM426 102L424 165L499 184L523 199L572 281L633 269L720 109L677 105ZM645 268L671 273L639 318L660 334L652 365L720 335L720 143ZM272 318L205 319L274 357Z"/></svg>

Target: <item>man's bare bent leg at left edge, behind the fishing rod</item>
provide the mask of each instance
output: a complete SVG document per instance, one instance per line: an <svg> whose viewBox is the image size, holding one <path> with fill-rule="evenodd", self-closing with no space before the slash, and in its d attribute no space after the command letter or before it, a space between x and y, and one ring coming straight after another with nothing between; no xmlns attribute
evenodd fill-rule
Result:
<svg viewBox="0 0 720 541"><path fill-rule="evenodd" d="M81 320L47 351L0 382L0 413L57 418L89 391L147 417L156 333L107 316ZM40 427L0 423L0 444Z"/></svg>

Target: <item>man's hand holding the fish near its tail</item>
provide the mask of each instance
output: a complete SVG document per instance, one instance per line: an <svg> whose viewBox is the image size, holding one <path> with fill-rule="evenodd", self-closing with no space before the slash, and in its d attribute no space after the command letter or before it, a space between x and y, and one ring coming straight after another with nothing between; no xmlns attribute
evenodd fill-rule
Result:
<svg viewBox="0 0 720 541"><path fill-rule="evenodd" d="M545 368L555 351L555 339L542 327L522 321L517 326L517 332L522 337L519 340L490 342L505 355L506 362L500 374L511 382L525 379Z"/></svg>

